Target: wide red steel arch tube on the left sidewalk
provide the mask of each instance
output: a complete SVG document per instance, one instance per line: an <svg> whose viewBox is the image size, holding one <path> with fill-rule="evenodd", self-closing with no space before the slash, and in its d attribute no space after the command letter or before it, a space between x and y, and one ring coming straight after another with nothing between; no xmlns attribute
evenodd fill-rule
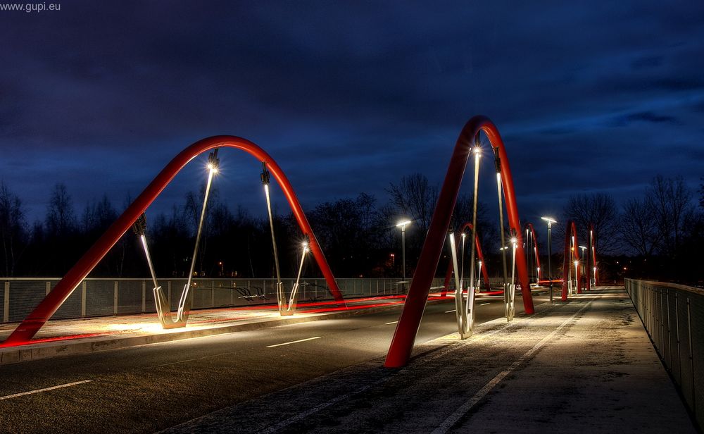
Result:
<svg viewBox="0 0 704 434"><path fill-rule="evenodd" d="M29 342L37 331L42 328L42 325L51 318L56 310L65 302L70 294L75 290L75 288L82 282L82 280L90 273L93 268L99 263L103 256L105 256L108 251L115 245L120 237L132 227L134 221L137 220L139 216L147 209L147 207L153 202L154 199L161 193L161 191L171 182L179 171L186 166L189 161L194 159L199 154L210 149L219 147L230 147L235 149L241 149L251 154L259 161L266 161L267 167L270 172L274 175L274 178L279 183L281 190L284 192L291 210L294 213L294 217L301 227L303 235L308 236L308 242L310 247L310 252L313 252L315 260L320 266L322 274L325 276L327 285L330 288L335 300L339 304L344 304L344 298L340 293L339 287L335 282L334 275L325 259L325 254L322 253L320 249L320 244L313 234L313 229L310 228L306 214L303 213L303 208L301 207L296 194L294 193L291 183L284 175L284 171L281 170L279 165L267 154L263 149L258 147L253 142L243 139L241 137L220 135L208 137L206 139L200 140L191 146L187 147L180 154L175 156L174 159L168 163L168 165L163 168L161 173L156 175L156 178L146 187L142 194L139 194L137 199L127 207L122 216L120 216L115 223L113 223L106 233L99 238L98 241L93 244L93 246L86 252L81 259L75 263L73 268L71 268L68 273L64 276L61 281L51 290L49 294L44 297L42 302L34 308L34 311L25 318L20 325L13 331L13 333L1 344L3 347L8 347L12 345L22 345Z"/></svg>

